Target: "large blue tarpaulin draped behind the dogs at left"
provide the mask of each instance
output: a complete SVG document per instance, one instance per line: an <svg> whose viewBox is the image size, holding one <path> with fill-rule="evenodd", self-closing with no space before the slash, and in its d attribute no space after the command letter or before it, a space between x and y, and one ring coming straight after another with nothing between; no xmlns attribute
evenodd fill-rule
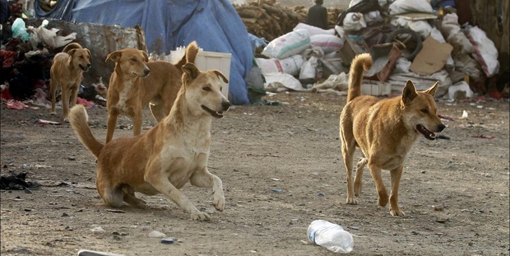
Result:
<svg viewBox="0 0 510 256"><path fill-rule="evenodd" d="M35 3L37 18L140 25L149 53L168 54L194 40L204 51L231 53L229 98L232 104L249 103L244 78L251 70L253 49L244 23L228 0L59 0L49 13Z"/></svg>

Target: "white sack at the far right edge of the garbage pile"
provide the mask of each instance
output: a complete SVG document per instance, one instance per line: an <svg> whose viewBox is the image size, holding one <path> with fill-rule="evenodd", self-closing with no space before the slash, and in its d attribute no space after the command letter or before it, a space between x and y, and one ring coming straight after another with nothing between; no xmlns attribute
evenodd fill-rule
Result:
<svg viewBox="0 0 510 256"><path fill-rule="evenodd" d="M487 77L494 76L499 72L498 50L494 42L487 38L485 32L479 27L470 27L466 31L468 39L473 44L474 53L472 56L480 66Z"/></svg>

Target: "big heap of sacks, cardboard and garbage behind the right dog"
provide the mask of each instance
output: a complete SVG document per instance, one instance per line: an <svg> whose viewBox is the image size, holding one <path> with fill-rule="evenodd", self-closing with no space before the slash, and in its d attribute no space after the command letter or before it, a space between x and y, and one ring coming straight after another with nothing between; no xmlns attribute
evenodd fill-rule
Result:
<svg viewBox="0 0 510 256"><path fill-rule="evenodd" d="M454 1L352 0L334 29L298 23L255 61L266 91L345 95L350 61L370 53L364 94L398 94L407 80L419 90L439 81L438 97L471 98L498 74L498 51L479 27L459 24L456 12Z"/></svg>

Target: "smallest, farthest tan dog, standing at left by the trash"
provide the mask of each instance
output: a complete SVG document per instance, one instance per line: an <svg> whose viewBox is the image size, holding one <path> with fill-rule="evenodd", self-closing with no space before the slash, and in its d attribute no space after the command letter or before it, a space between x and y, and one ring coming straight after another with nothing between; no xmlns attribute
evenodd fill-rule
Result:
<svg viewBox="0 0 510 256"><path fill-rule="evenodd" d="M76 104L78 89L84 79L83 73L90 68L90 51L73 42L53 57L50 68L51 115L55 115L55 94L57 87L62 89L62 111L64 122L68 122L69 104ZM71 100L71 101L70 101Z"/></svg>

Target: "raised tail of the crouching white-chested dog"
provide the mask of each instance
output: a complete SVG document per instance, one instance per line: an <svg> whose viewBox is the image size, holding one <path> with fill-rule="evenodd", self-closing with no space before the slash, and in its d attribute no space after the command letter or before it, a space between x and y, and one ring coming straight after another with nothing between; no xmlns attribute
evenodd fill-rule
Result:
<svg viewBox="0 0 510 256"><path fill-rule="evenodd" d="M90 128L87 124L88 115L87 111L85 111L85 107L81 104L76 104L73 106L71 111L69 111L69 122L75 131L76 136L79 141L88 148L96 158L101 153L101 150L104 147L104 144L97 141L97 139L90 132Z"/></svg>

